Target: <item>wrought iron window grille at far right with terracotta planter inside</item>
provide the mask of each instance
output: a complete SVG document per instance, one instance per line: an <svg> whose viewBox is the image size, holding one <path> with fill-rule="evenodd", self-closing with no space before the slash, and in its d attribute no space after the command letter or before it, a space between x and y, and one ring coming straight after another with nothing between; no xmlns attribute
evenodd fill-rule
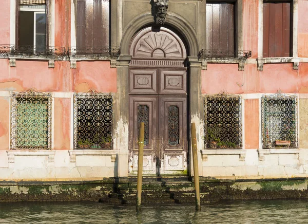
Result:
<svg viewBox="0 0 308 224"><path fill-rule="evenodd" d="M297 97L277 91L261 98L263 148L298 147Z"/></svg>

